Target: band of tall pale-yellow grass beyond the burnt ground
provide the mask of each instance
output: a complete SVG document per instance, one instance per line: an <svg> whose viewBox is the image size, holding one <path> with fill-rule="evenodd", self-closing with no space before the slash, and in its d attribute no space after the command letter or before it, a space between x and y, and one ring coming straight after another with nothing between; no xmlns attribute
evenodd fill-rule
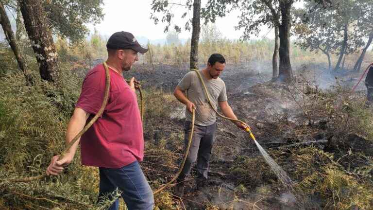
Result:
<svg viewBox="0 0 373 210"><path fill-rule="evenodd" d="M214 39L214 37L217 37ZM90 66L97 61L106 59L106 41L98 31L94 31L90 40L86 40L79 46L69 46L65 40L57 40L57 51L62 61L73 60L79 63L85 60ZM295 44L295 40L290 44L290 59L294 69L298 69L302 64L313 64L326 69L327 57L322 52L310 52L303 50ZM139 62L143 65L173 65L179 68L187 68L190 58L190 40L178 44L151 44L148 43L150 51L143 55L140 54ZM208 57L212 53L224 55L227 65L249 64L251 62L260 62L262 64L272 64L272 55L274 50L274 40L263 38L250 41L232 40L221 37L221 35L201 38L199 43L199 65L205 65ZM345 69L350 70L354 67L360 52L352 53L346 56ZM367 52L362 69L373 62L373 54ZM336 64L338 55L332 54L332 67ZM271 69L271 68L270 68Z"/></svg>

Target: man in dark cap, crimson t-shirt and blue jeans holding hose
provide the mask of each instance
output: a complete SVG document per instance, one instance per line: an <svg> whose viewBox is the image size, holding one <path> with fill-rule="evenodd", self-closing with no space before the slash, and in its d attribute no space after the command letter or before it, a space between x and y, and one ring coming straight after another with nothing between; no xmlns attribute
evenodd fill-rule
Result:
<svg viewBox="0 0 373 210"><path fill-rule="evenodd" d="M137 53L146 53L134 35L117 32L110 36L107 44L110 71L109 100L102 116L80 139L82 164L96 166L100 170L99 203L103 197L119 189L129 210L152 210L153 192L138 162L144 156L144 139L140 111L135 93L135 78L129 84L123 71L131 69L138 60ZM97 65L85 76L82 92L74 113L68 123L68 144L100 109L105 90L105 70ZM51 159L48 175L57 175L74 158L77 141L65 157ZM118 199L109 210L118 210Z"/></svg>

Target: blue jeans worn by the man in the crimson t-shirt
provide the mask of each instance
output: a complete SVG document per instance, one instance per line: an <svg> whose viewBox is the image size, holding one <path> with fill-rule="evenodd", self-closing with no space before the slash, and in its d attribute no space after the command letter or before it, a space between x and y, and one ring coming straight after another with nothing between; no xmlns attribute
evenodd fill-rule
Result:
<svg viewBox="0 0 373 210"><path fill-rule="evenodd" d="M117 188L128 210L152 210L154 206L153 191L137 161L118 169L100 167L99 201L103 196L114 192ZM109 210L119 209L117 199Z"/></svg>

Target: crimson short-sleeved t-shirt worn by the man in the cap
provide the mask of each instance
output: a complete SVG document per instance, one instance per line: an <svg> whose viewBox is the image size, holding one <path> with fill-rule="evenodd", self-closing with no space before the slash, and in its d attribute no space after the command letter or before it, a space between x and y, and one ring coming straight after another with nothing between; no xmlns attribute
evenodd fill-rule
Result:
<svg viewBox="0 0 373 210"><path fill-rule="evenodd" d="M144 139L136 93L114 70L110 71L110 95L102 116L83 134L82 164L121 168L144 157ZM105 92L105 70L97 65L85 76L76 107L91 113L99 111Z"/></svg>

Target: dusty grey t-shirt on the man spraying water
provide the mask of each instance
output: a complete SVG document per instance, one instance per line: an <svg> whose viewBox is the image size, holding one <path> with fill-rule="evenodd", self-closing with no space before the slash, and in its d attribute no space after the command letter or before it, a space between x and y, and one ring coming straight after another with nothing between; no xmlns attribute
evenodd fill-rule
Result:
<svg viewBox="0 0 373 210"><path fill-rule="evenodd" d="M219 77L217 79L207 80L204 78L202 70L199 70L210 95L212 105L217 108L219 102L227 101L227 92L225 83ZM196 105L195 124L207 126L214 124L216 121L216 113L208 104L207 98L203 91L198 75L194 71L189 71L179 82L178 86L181 90L186 91L186 97L194 105ZM192 121L192 114L186 109L186 121Z"/></svg>

